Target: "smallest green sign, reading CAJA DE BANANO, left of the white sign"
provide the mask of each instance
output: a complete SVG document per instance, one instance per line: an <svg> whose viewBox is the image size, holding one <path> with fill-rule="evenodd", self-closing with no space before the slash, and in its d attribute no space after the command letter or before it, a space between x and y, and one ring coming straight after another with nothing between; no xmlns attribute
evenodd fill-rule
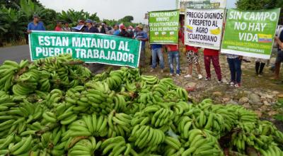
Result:
<svg viewBox="0 0 283 156"><path fill-rule="evenodd" d="M149 12L150 44L178 44L178 10Z"/></svg>

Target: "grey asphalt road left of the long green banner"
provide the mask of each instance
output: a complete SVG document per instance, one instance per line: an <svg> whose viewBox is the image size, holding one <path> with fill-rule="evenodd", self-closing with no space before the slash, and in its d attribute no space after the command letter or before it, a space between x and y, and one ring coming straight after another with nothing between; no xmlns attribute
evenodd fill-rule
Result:
<svg viewBox="0 0 283 156"><path fill-rule="evenodd" d="M0 65L5 60L20 62L23 59L30 60L30 50L28 48L28 45L0 48Z"/></svg>

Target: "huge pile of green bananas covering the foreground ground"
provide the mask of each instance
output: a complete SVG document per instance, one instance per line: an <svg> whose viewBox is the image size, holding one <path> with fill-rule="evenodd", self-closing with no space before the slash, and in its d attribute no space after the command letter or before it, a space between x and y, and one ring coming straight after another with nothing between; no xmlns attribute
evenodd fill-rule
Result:
<svg viewBox="0 0 283 156"><path fill-rule="evenodd" d="M70 55L5 61L0 155L283 155L283 133L253 111L187 96L173 79L127 67L94 75Z"/></svg>

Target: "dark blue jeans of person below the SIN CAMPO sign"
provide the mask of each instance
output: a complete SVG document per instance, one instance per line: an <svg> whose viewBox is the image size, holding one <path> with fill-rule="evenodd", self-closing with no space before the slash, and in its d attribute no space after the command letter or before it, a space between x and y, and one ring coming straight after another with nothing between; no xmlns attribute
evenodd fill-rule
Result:
<svg viewBox="0 0 283 156"><path fill-rule="evenodd" d="M242 60L239 57L233 59L227 58L227 62L231 72L231 82L236 82L240 84L241 75L242 75L242 70L241 70Z"/></svg>

